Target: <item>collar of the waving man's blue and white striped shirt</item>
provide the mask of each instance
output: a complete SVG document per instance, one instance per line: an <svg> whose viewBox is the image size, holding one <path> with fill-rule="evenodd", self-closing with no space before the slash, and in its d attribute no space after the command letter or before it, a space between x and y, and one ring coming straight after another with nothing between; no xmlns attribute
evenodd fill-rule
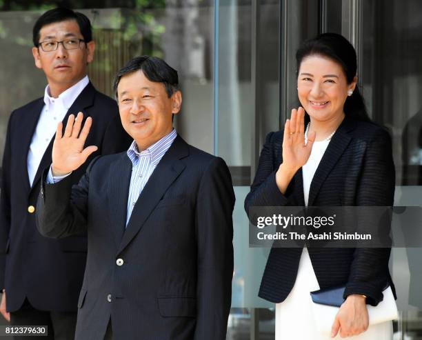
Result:
<svg viewBox="0 0 422 340"><path fill-rule="evenodd" d="M152 146L146 148L145 150L139 152L136 141L132 141L130 147L127 151L128 157L132 163L136 162L139 157L145 157L150 159L150 162L157 166L159 161L163 158L165 152L170 148L174 139L177 137L176 129L173 129L172 132L166 134L159 141L152 144Z"/></svg>

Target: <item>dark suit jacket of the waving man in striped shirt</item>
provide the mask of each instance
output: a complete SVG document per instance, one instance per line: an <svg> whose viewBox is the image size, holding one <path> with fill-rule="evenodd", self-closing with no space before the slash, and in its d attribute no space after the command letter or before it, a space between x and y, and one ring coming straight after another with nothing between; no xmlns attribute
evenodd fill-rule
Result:
<svg viewBox="0 0 422 340"><path fill-rule="evenodd" d="M233 274L234 192L227 166L177 137L125 228L132 162L92 161L78 186L43 184L39 231L88 228L76 339L224 340ZM71 194L71 197L70 197Z"/></svg>

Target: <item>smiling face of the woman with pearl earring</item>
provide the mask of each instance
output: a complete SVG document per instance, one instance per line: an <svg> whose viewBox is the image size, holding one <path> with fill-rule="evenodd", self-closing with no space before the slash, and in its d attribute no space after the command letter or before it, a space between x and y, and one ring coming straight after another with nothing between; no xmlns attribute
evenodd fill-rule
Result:
<svg viewBox="0 0 422 340"><path fill-rule="evenodd" d="M301 62L297 78L299 101L312 119L332 121L344 114L348 91L354 90L356 77L348 83L336 61L313 54Z"/></svg>

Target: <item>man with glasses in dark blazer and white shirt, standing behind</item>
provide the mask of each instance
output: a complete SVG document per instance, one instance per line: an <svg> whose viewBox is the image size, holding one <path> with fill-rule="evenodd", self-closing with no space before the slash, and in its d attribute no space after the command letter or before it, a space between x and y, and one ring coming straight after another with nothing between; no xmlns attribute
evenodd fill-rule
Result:
<svg viewBox="0 0 422 340"><path fill-rule="evenodd" d="M95 48L89 19L72 10L50 10L35 23L33 39L35 65L46 74L48 86L43 98L14 110L8 123L1 178L0 309L14 326L44 325L49 339L73 339L87 239L53 240L37 232L34 206L41 173L52 161L57 123L70 113L84 112L95 121L87 143L98 147L97 154L125 150L130 139L116 103L88 79ZM75 171L72 182L85 170Z"/></svg>

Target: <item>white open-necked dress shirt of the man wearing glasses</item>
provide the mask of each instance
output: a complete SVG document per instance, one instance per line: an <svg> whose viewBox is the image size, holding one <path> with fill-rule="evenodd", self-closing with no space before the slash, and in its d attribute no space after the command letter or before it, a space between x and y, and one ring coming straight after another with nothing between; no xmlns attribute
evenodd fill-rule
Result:
<svg viewBox="0 0 422 340"><path fill-rule="evenodd" d="M34 182L39 163L41 163L41 159L43 158L52 137L56 133L57 124L60 121L63 121L70 106L72 106L73 102L89 82L88 76L85 76L74 84L74 86L61 93L57 98L50 96L50 88L49 86L46 86L44 92L45 104L41 110L37 128L35 128L34 134L32 135L31 145L26 159L30 186L32 186L32 183ZM77 114L78 112L72 113Z"/></svg>

